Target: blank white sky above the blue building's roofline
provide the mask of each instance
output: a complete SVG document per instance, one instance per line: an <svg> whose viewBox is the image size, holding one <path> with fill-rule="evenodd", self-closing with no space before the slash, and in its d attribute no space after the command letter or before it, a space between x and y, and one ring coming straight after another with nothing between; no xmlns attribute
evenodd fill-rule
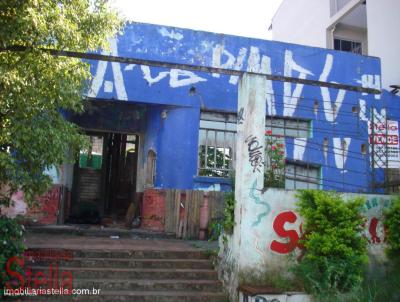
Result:
<svg viewBox="0 0 400 302"><path fill-rule="evenodd" d="M282 0L112 0L130 21L170 25L260 39Z"/></svg>

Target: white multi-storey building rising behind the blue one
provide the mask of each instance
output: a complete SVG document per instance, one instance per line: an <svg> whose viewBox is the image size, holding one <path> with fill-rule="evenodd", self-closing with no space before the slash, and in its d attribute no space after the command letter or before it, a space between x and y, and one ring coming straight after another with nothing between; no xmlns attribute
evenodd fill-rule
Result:
<svg viewBox="0 0 400 302"><path fill-rule="evenodd" d="M270 29L277 41L381 58L388 90L400 85L399 13L396 0L284 0Z"/></svg>

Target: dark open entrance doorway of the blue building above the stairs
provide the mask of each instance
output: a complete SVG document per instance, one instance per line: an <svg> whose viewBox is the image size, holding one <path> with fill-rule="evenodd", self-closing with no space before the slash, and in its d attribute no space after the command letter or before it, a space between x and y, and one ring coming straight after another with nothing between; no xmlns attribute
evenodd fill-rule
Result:
<svg viewBox="0 0 400 302"><path fill-rule="evenodd" d="M74 168L69 222L122 222L136 198L139 136L115 132L86 135L87 145Z"/></svg>

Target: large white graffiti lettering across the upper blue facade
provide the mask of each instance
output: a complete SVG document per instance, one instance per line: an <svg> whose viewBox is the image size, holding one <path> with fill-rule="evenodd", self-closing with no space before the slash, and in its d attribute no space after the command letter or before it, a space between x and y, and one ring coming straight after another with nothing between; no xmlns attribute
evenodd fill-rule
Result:
<svg viewBox="0 0 400 302"><path fill-rule="evenodd" d="M166 36L164 35L164 37ZM205 42L206 41L203 41L200 44L205 44ZM117 40L111 40L110 44L111 51L109 53L104 52L103 54L118 56ZM271 56L261 55L259 47L250 46L250 50L248 48L240 48L237 56L234 56L226 48L226 46L219 44L212 48L210 67L273 74L271 68ZM193 53L193 51L191 52ZM108 64L111 65L113 81L105 80ZM282 69L283 75L286 77L296 77L297 75L299 79L316 78L319 81L329 82L331 80L330 74L332 73L333 66L334 56L332 54L327 54L323 70L320 72L318 77L311 70L301 66L295 61L293 51L284 51L284 65L282 66ZM195 72L188 70L170 69L168 71L152 72L152 70L155 70L156 68L135 64L129 64L123 68L121 63L118 62L109 63L99 61L94 72L94 78L88 96L97 97L99 93L101 93L100 89L103 87L103 92L112 93L115 90L119 100L128 100L129 89L126 87L128 83L125 78L127 77L127 73L133 72L136 68L141 70L142 78L149 86L160 83L166 78L169 78L168 84L170 88L180 88L208 81L207 77L199 76ZM212 74L212 77L220 78L220 74ZM364 88L380 89L379 79L379 75L363 74L359 79L356 79L355 82L361 84ZM238 76L230 76L229 84L237 85L237 83ZM290 82L284 83L282 95L284 116L291 117L294 115L295 110L298 108L299 102L301 101L303 89L304 84L292 84ZM339 90L336 97L334 97L329 88L320 87L320 90L325 119L328 122L335 122L346 98L346 91ZM268 113L270 115L276 115L276 94L272 81L267 81L266 102Z"/></svg>

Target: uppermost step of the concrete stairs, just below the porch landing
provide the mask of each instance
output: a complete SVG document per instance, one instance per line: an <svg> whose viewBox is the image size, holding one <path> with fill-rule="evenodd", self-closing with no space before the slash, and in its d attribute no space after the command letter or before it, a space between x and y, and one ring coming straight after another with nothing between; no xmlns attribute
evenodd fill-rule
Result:
<svg viewBox="0 0 400 302"><path fill-rule="evenodd" d="M38 255L48 249L30 248L28 253ZM202 251L194 250L63 250L52 249L52 253L67 253L72 258L108 258L108 259L208 259ZM47 257L47 256L45 256ZM41 257L43 258L43 257Z"/></svg>

